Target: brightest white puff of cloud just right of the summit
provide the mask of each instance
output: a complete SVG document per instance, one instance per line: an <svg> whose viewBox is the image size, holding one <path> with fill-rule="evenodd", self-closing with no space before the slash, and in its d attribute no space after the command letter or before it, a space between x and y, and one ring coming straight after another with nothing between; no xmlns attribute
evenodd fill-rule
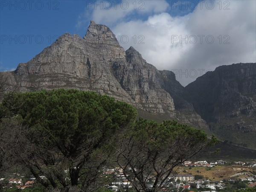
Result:
<svg viewBox="0 0 256 192"><path fill-rule="evenodd" d="M183 19L186 20L186 18ZM192 47L180 44L179 41L172 43L172 35L185 35L188 31L184 23L180 22L180 18L171 17L168 13L154 15L145 22L120 23L113 28L113 32L120 35L117 39L122 47L125 49L130 46L135 47L147 62L154 64L158 69L166 69L170 66L170 62L179 61L182 58L180 52ZM124 43L121 40L125 35L130 40L127 44L124 44L125 38ZM136 41L134 41L135 38Z"/></svg>

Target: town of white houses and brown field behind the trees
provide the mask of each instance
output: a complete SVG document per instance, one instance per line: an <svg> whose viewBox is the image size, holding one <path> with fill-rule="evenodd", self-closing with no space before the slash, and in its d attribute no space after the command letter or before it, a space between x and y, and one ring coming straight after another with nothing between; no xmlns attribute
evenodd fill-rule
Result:
<svg viewBox="0 0 256 192"><path fill-rule="evenodd" d="M131 171L131 168L128 168ZM68 173L68 170L65 170ZM133 185L128 175L120 167L104 168L102 173L111 178L102 192L133 191ZM41 175L41 179L45 176ZM256 188L256 162L235 161L228 163L224 160L214 162L185 161L177 174L168 177L165 187L160 191L177 192L231 192L236 189ZM69 177L66 178L69 180ZM147 179L148 188L153 187L154 175ZM3 184L3 183L6 184ZM25 178L21 173L14 173L12 178L0 178L3 189L8 191L33 189L38 183L35 177Z"/></svg>

